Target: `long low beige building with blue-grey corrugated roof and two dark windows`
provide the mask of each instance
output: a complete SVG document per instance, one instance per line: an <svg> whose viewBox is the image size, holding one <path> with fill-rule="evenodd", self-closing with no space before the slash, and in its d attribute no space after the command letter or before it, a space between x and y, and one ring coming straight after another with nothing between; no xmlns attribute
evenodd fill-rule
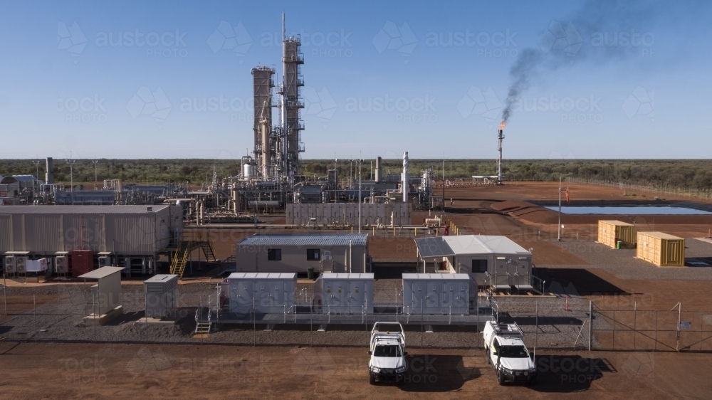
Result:
<svg viewBox="0 0 712 400"><path fill-rule="evenodd" d="M259 234L236 245L237 272L370 272L366 233Z"/></svg>

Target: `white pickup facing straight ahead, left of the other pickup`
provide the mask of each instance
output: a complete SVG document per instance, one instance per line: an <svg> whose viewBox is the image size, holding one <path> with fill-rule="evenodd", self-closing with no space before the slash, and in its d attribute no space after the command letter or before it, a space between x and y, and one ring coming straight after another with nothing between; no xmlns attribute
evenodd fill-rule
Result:
<svg viewBox="0 0 712 400"><path fill-rule="evenodd" d="M368 351L369 383L394 381L403 383L406 370L405 332L398 322L376 322L371 330Z"/></svg>

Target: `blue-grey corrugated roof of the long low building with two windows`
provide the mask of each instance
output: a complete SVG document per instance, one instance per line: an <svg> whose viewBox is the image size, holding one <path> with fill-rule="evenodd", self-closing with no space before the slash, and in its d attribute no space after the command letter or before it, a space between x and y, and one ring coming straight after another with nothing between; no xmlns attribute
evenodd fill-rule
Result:
<svg viewBox="0 0 712 400"><path fill-rule="evenodd" d="M365 246L367 238L368 233L258 233L242 239L237 246Z"/></svg>

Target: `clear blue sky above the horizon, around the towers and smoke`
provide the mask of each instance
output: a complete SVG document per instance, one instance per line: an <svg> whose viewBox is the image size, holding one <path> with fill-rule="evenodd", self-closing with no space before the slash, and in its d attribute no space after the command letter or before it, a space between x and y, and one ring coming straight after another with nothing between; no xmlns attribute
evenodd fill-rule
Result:
<svg viewBox="0 0 712 400"><path fill-rule="evenodd" d="M66 3L0 3L0 159L239 159L251 68L281 79L283 12L303 40L305 159L495 157L525 48L566 61L523 93L506 158L712 147L706 3L658 3L593 31L576 1Z"/></svg>

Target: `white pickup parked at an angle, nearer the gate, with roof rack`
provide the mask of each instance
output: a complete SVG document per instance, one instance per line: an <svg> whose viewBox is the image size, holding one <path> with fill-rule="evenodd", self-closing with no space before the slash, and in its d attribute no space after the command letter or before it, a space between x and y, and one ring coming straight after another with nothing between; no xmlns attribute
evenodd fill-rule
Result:
<svg viewBox="0 0 712 400"><path fill-rule="evenodd" d="M523 333L514 324L488 321L483 331L488 364L497 373L498 384L505 381L534 384L537 370L523 342Z"/></svg>

